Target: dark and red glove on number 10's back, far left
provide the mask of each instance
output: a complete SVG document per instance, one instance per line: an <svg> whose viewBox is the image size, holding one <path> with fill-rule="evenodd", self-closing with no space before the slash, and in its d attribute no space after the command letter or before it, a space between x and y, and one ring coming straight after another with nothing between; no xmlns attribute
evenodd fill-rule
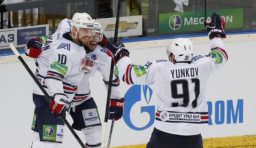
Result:
<svg viewBox="0 0 256 148"><path fill-rule="evenodd" d="M32 37L28 40L27 46L25 47L25 54L30 58L37 58L41 53L41 47L43 43L38 37Z"/></svg>

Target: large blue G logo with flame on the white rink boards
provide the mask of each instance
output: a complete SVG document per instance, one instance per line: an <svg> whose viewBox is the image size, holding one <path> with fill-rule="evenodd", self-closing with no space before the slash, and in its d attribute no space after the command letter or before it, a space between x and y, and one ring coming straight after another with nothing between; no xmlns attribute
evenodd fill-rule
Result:
<svg viewBox="0 0 256 148"><path fill-rule="evenodd" d="M142 89L142 91L141 91L141 89ZM144 95L141 95L141 92L143 92ZM148 105L151 101L152 93L153 93L153 91L150 87L148 87L148 85L133 85L125 93L125 95L124 95L125 105L124 105L123 118L124 118L124 122L131 129L134 129L134 130L148 129L154 123L155 105ZM134 107L135 104L137 106L142 104L140 106L140 113L135 112L136 111L136 109L134 109L134 108L136 108L136 107ZM140 114L142 114L143 112L146 112L149 114L149 117L150 117L149 121L145 120L146 119L146 117L145 117L145 119L140 120L140 123L143 124L142 127L135 126L132 123L131 118L132 119L134 119L136 117L138 118L138 116L140 116ZM145 113L143 113L143 115L145 115ZM136 120L139 120L139 119L136 119Z"/></svg>

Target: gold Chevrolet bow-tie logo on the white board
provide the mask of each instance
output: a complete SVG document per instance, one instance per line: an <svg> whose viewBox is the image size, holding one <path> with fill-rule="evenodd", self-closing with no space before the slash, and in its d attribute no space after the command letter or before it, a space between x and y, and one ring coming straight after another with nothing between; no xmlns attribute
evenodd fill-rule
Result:
<svg viewBox="0 0 256 148"><path fill-rule="evenodd" d="M135 29L138 25L138 22L127 23L127 21L119 22L118 32L127 32L127 29ZM105 31L115 30L116 24L109 24L106 26Z"/></svg>

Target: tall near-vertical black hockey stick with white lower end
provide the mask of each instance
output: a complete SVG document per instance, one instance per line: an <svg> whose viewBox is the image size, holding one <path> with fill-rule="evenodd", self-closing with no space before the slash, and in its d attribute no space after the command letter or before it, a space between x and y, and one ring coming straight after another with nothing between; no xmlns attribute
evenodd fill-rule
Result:
<svg viewBox="0 0 256 148"><path fill-rule="evenodd" d="M121 2L122 2L122 0L118 0L114 42L117 42ZM105 111L105 119L104 119L104 127L103 127L101 148L106 148L106 134L107 134L108 112L109 112L109 103L110 103L110 96L111 96L111 89L112 89L113 71L114 71L114 62L111 60L110 73L109 73L109 82L108 82L108 96L107 96L107 104L106 104L106 111ZM114 122L115 122L115 116L113 117L111 128L110 128L110 133L109 133L109 136L108 136L108 146L110 144Z"/></svg>

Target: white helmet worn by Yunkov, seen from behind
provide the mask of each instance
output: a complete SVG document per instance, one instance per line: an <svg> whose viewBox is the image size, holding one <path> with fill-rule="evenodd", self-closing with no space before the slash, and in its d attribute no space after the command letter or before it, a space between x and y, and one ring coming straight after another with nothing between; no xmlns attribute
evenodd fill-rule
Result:
<svg viewBox="0 0 256 148"><path fill-rule="evenodd" d="M166 54L169 60L173 54L175 62L191 61L193 58L193 44L188 38L176 38L167 47Z"/></svg>

